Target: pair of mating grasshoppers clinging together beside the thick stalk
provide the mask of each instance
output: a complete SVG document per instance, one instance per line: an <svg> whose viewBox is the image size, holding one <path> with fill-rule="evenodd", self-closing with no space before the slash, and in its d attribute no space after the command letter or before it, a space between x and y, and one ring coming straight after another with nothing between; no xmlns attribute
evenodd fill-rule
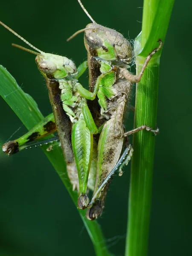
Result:
<svg viewBox="0 0 192 256"><path fill-rule="evenodd" d="M82 4L81 7L84 9ZM87 13L85 9L84 11ZM93 23L79 31L84 31L90 91L84 89L77 80L86 70L86 63L76 69L71 60L40 51L1 24L39 52L29 50L37 55L35 61L45 77L53 110L53 114L32 131L18 140L5 143L3 151L14 154L57 129L69 178L73 189L79 190L78 207L88 208L87 218L93 220L102 214L111 175L121 165L122 159L125 158L124 163L127 164L132 155L133 149L128 145L119 160L123 138L143 129L156 132L143 125L125 133L122 122L131 93L131 83L140 81L148 61L162 43L148 56L140 74L134 76L127 70L132 59L130 43L115 30L97 24L92 18L91 20ZM93 138L93 134L100 131L99 140ZM92 190L94 188L90 203L87 187Z"/></svg>

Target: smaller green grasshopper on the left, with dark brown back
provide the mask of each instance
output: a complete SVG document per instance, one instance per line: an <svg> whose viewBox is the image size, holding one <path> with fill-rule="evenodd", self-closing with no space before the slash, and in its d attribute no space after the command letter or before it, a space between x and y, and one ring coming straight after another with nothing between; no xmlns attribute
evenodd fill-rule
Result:
<svg viewBox="0 0 192 256"><path fill-rule="evenodd" d="M82 96L85 89L77 80L79 78L79 73L82 74L87 67L83 63L79 67L80 72L78 73L75 64L70 59L42 52L5 24L2 22L0 22L0 24L39 52L33 52L32 50L15 45L20 49L24 49L37 55L35 61L38 65L38 69L46 80L49 99L55 119L56 127L53 125L53 132L57 128L73 188L75 189L75 187L79 185L78 207L84 209L89 202L87 196L87 182L92 160L93 134L100 131L97 129L86 100ZM99 86L102 76L98 78L96 88ZM50 119L48 122L53 124L52 115L49 115L47 119ZM29 143L50 134L51 128L49 128L49 125L47 124L47 119L44 120L44 123L41 122L36 125L32 131L17 141L3 145L3 151L8 154L13 154L14 151L18 150L19 144L21 146L23 142ZM72 134L71 124L73 126ZM73 159L73 152L75 162ZM77 182L75 177L76 168L79 182Z"/></svg>

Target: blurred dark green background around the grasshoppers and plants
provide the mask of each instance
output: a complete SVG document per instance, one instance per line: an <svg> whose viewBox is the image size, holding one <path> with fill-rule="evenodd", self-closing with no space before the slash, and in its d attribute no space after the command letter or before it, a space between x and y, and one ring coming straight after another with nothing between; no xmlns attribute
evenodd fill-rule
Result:
<svg viewBox="0 0 192 256"><path fill-rule="evenodd" d="M97 23L130 39L140 32L143 1L83 2ZM192 253L191 7L189 0L176 1L161 57L149 256ZM4 1L0 20L44 52L67 56L77 65L86 59L83 34L66 42L90 22L76 0ZM25 46L0 27L0 64L47 115L51 107L35 55L11 47L12 42ZM86 76L81 82L87 84ZM5 142L18 128L12 139L22 135L26 129L3 99L0 109L0 140ZM127 121L132 128L133 114ZM99 219L116 256L125 247L129 168L114 177ZM12 157L0 154L0 227L2 256L94 255L73 202L40 148Z"/></svg>

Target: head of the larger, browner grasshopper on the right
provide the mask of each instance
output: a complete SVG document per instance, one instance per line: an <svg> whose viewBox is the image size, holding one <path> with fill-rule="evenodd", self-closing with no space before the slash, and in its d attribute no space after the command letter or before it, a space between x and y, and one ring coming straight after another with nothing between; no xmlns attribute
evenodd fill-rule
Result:
<svg viewBox="0 0 192 256"><path fill-rule="evenodd" d="M97 23L90 23L86 28L89 29L84 32L84 44L92 56L105 61L131 61L132 47L122 34Z"/></svg>

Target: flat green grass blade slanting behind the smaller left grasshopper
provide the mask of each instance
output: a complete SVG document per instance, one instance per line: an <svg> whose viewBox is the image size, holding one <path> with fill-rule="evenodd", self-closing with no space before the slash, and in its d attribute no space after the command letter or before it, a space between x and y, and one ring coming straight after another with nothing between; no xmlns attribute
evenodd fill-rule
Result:
<svg viewBox="0 0 192 256"><path fill-rule="evenodd" d="M11 74L1 65L0 95L9 104L28 130L30 130L34 125L44 118L34 99L32 99L32 97L27 93L23 92ZM54 150L49 152L46 151L46 147L43 147L43 151L61 178L76 206L78 194L72 190L61 147L54 147ZM78 211L87 232L89 233L90 239L93 242L96 255L109 256L110 253L108 253L105 245L105 238L103 237L99 224L96 221L88 221L85 218L85 211Z"/></svg>

